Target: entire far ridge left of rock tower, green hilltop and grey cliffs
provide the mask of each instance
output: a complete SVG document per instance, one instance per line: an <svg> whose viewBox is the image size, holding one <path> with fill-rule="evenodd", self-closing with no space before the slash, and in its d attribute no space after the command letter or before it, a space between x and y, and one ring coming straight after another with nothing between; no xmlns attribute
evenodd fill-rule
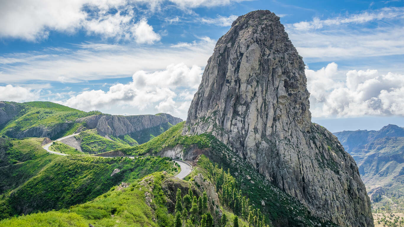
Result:
<svg viewBox="0 0 404 227"><path fill-rule="evenodd" d="M182 122L181 118L167 113L119 116L100 111L84 112L52 102L0 102L0 135L13 138L57 139L97 128L101 135L130 135L139 143L144 143L150 135L160 135L179 122Z"/></svg>

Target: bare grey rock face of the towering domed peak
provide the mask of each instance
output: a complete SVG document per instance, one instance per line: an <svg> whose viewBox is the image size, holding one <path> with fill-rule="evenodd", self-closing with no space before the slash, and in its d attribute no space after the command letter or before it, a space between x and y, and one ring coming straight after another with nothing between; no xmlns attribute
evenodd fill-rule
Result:
<svg viewBox="0 0 404 227"><path fill-rule="evenodd" d="M304 63L274 13L238 17L209 58L183 134L211 132L267 179L340 226L373 226L355 161L311 123Z"/></svg>

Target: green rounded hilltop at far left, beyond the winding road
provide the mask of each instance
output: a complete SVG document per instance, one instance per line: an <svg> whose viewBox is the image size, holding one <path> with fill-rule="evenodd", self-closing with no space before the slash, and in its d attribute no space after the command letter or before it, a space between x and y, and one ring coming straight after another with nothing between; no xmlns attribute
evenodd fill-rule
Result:
<svg viewBox="0 0 404 227"><path fill-rule="evenodd" d="M86 113L78 109L73 109L52 102L34 101L21 103L21 105L23 106L22 110L17 116L9 121L4 128L2 128L0 135L8 135L8 131L21 132L38 126L53 128L64 122L71 122L77 118L101 113L99 111ZM76 126L77 125L72 123L70 129L75 128ZM63 135L57 135L57 137L61 136Z"/></svg>

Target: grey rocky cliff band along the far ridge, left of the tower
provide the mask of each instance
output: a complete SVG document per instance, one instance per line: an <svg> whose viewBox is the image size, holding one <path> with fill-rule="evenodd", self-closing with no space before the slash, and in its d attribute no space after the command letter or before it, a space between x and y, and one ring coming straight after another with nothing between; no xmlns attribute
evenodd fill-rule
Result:
<svg viewBox="0 0 404 227"><path fill-rule="evenodd" d="M93 115L80 118L76 122L86 122L88 129L97 128L97 131L105 135L127 135L133 132L159 126L164 123L178 124L181 118L176 118L167 113L156 115Z"/></svg>

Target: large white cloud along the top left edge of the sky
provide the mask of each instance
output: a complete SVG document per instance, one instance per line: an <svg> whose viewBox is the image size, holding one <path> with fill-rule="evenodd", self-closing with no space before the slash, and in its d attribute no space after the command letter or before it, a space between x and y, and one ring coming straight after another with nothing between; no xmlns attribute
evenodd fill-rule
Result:
<svg viewBox="0 0 404 227"><path fill-rule="evenodd" d="M168 0L174 6L189 8L223 6L242 0ZM145 20L134 23L134 9L139 4L149 11L161 8L162 0L13 0L0 1L0 37L20 38L28 41L46 39L51 31L74 33L83 29L88 34L105 38L129 40L138 43L159 40ZM139 10L140 11L140 10ZM137 11L137 13L139 12ZM146 13L148 10L144 10ZM133 25L135 24L135 29ZM143 35L147 35L143 38Z"/></svg>

